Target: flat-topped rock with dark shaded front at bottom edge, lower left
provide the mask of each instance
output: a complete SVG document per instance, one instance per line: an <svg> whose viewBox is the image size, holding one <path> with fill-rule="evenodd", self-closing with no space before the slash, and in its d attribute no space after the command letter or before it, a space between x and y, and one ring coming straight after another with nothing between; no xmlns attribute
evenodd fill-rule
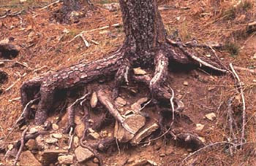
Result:
<svg viewBox="0 0 256 166"><path fill-rule="evenodd" d="M42 165L55 164L59 154L66 154L67 150L45 150L42 154Z"/></svg>

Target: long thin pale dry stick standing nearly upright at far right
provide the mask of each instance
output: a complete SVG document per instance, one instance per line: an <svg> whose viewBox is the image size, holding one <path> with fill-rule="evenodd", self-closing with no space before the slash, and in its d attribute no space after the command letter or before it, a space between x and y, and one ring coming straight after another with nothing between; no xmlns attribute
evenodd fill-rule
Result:
<svg viewBox="0 0 256 166"><path fill-rule="evenodd" d="M238 74L236 73L235 69L233 68L233 65L232 63L230 63L230 68L233 72L233 76L235 79L237 79L238 81L238 90L240 91L240 95L241 95L241 98L242 98L242 102L243 102L243 123L242 123L242 133L241 133L241 141L240 143L244 143L245 141L245 138L244 138L244 130L245 130L245 124L246 124L246 117L245 117L245 114L246 114L246 107L245 107L245 99L244 99L244 91L243 91L243 84L241 83L241 80L238 76Z"/></svg>

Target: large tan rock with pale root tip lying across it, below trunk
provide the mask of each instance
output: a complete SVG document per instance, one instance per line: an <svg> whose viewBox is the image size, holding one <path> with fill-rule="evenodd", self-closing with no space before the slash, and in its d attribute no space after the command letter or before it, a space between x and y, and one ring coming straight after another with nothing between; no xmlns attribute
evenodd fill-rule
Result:
<svg viewBox="0 0 256 166"><path fill-rule="evenodd" d="M124 119L124 123L126 123L134 133L137 133L138 130L145 125L145 122L146 118L138 114L126 116ZM121 143L127 143L134 137L134 134L129 133L124 129L124 127L118 125L118 123L116 123L115 130L115 138L117 138Z"/></svg>

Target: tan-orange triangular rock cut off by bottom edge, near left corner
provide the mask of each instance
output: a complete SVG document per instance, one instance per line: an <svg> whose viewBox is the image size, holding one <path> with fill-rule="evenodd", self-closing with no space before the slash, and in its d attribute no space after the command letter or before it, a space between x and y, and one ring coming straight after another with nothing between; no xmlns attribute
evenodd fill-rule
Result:
<svg viewBox="0 0 256 166"><path fill-rule="evenodd" d="M20 166L39 166L41 163L34 157L31 151L23 151L20 155Z"/></svg>

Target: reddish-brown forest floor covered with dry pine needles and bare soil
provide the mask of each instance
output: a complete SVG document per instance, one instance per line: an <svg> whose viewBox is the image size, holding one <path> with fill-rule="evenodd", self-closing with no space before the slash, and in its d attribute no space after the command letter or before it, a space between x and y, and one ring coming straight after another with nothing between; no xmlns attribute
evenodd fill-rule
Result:
<svg viewBox="0 0 256 166"><path fill-rule="evenodd" d="M13 60L23 64L20 66L13 61L1 63L2 59L0 59L0 69L9 75L7 82L0 84L0 89L3 90L0 95L0 143L4 143L5 147L20 139L23 133L17 127L8 140L4 141L22 111L20 86L23 82L48 71L107 57L109 52L116 50L124 39L121 26L90 31L106 25L122 23L121 11L118 9L110 12L102 6L101 1L94 2L97 8L87 12L86 17L80 18L78 23L70 25L57 23L53 18L53 11L59 9L61 4L41 9L45 6L44 2L33 3L27 1L18 6L7 4L0 7L0 16L4 15L7 9L11 9L12 12L25 9L20 15L0 18L0 41L14 38L12 43L20 47L20 54ZM217 1L208 0L177 0L163 2L159 5L159 9L169 35L175 36L178 30L178 37L183 42L195 39L198 43L222 43L225 47L216 52L225 66L228 67L229 63L233 63L236 66L254 69L256 68L256 31L248 32L247 25L255 21L256 6L249 1L236 3L234 4L231 0L221 1L219 4ZM72 40L81 31L89 31L84 34L90 44L89 47L86 47L79 37ZM216 58L210 50L196 48L196 51L202 57ZM175 90L176 97L184 102L183 114L189 119L181 118L181 120L184 124L190 124L189 128L185 128L186 125L178 127L184 127L184 130L196 133L206 145L228 141L230 128L228 127L227 100L234 96L233 116L239 129L236 135L241 138L242 102L232 74L213 74L203 68L183 68L182 70L177 66L170 66L170 68L167 82ZM219 144L203 149L182 162L193 152L193 149L172 141L170 137L162 136L150 143L142 143L138 146L121 145L119 151L108 151L102 154L105 165L123 165L127 160L129 162L140 160L142 163L148 160L157 165L256 165L254 144L256 141L256 78L247 71L238 71L238 75L243 82L245 95L245 138L248 144L238 149L235 154L230 155L227 146ZM145 88L140 85L134 85L133 88L135 93L131 93L129 88L125 87L121 90L120 96L126 101L123 111L129 110L132 103L140 98L148 97ZM69 103L74 102L74 99L69 100ZM146 107L143 111L154 114L157 119L154 107ZM206 115L211 113L216 117L209 120ZM79 119L83 114L80 111L76 114L77 122L80 122ZM59 113L54 113L50 116L50 121L56 122L58 117ZM55 133L61 132L65 127L64 122L65 118L61 119L59 130ZM203 125L203 129L198 130L198 125ZM107 131L108 136L111 137L113 128L114 124L110 124L102 131ZM102 132L99 133L102 134ZM68 135L64 135L59 143L48 146L48 149L62 149L67 146L67 141ZM32 152L38 160L42 158L41 152ZM0 154L1 165L11 165L13 159L4 159L4 153L5 151L1 151ZM23 161L20 165L26 165L26 162ZM90 160L83 165L97 164ZM152 164L144 162L141 165Z"/></svg>

